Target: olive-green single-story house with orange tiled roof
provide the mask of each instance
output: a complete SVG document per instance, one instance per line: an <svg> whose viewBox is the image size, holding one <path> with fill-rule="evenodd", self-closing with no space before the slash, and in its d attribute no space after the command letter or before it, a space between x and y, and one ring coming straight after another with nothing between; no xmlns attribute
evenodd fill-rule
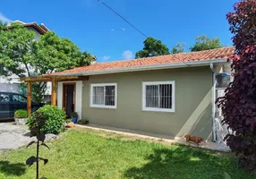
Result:
<svg viewBox="0 0 256 179"><path fill-rule="evenodd" d="M216 139L216 77L231 73L226 60L234 54L234 47L223 47L55 72L51 76L84 77L56 83L57 107L90 124Z"/></svg>

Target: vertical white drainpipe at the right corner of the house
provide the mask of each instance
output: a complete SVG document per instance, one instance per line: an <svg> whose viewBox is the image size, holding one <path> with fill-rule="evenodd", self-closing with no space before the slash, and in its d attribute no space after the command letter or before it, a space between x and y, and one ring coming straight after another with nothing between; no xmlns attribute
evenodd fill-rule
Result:
<svg viewBox="0 0 256 179"><path fill-rule="evenodd" d="M215 124L215 113L216 113L216 106L215 106L215 100L216 100L216 74L214 71L213 64L209 64L209 68L212 71L212 141L217 141L216 139L216 124Z"/></svg>

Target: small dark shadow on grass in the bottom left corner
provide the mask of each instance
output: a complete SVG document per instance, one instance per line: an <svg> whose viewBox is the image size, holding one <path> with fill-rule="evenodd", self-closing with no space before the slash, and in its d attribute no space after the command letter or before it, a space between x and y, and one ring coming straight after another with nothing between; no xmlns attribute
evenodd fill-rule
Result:
<svg viewBox="0 0 256 179"><path fill-rule="evenodd" d="M24 175L26 171L26 165L22 163L12 164L9 161L0 161L0 173L5 175Z"/></svg>

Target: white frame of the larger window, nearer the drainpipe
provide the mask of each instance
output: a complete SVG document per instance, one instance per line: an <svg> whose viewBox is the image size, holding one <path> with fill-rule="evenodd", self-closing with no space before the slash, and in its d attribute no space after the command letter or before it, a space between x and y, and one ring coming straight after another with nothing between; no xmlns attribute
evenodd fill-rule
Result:
<svg viewBox="0 0 256 179"><path fill-rule="evenodd" d="M172 108L158 108L158 107L146 107L146 86L147 85L172 85ZM158 111L158 112L175 112L175 81L147 81L142 82L142 111Z"/></svg>

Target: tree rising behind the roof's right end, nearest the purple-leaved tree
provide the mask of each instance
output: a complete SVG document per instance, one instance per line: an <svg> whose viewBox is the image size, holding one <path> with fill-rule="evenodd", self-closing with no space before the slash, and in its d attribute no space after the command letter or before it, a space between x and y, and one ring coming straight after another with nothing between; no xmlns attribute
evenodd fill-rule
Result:
<svg viewBox="0 0 256 179"><path fill-rule="evenodd" d="M192 52L202 50L216 49L222 47L219 38L209 38L207 36L200 36L195 38L195 45L190 47Z"/></svg>

